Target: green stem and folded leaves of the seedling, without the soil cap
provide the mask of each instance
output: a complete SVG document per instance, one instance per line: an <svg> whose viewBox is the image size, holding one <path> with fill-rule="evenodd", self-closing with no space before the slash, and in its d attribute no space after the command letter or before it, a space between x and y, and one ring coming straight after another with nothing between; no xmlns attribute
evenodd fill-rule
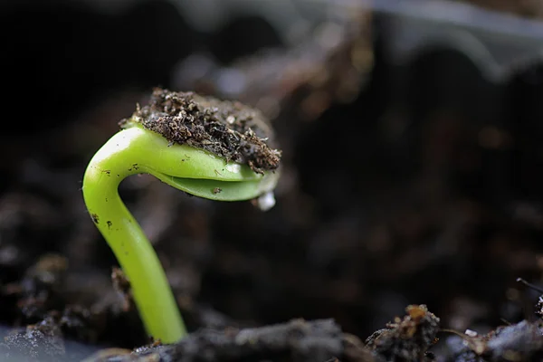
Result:
<svg viewBox="0 0 543 362"><path fill-rule="evenodd" d="M248 200L270 192L278 176L255 174L204 150L169 146L165 138L139 127L119 131L90 161L82 187L90 216L129 278L148 334L173 343L186 335L185 324L156 252L119 197L120 182L141 173L221 201Z"/></svg>

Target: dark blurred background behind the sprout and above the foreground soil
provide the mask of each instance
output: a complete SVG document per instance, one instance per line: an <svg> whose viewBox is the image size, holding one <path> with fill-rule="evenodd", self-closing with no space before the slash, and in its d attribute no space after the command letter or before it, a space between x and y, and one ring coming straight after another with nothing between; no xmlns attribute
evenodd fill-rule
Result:
<svg viewBox="0 0 543 362"><path fill-rule="evenodd" d="M283 149L266 213L121 186L190 330L334 318L364 339L410 303L459 331L531 316L541 4L4 0L0 322L56 313L66 338L146 343L81 179L156 86L257 107Z"/></svg>

